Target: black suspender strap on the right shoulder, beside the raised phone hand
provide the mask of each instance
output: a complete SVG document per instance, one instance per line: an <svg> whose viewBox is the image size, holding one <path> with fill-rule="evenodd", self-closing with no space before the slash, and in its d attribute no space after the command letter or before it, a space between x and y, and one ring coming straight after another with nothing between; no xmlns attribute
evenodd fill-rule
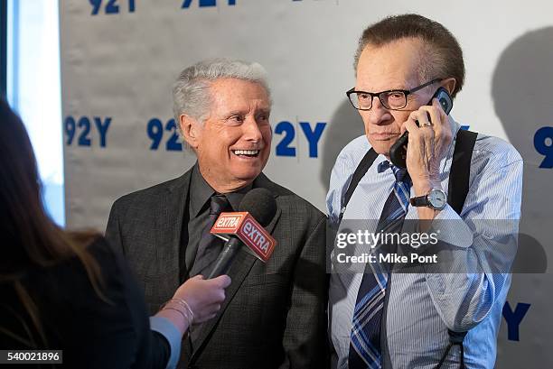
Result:
<svg viewBox="0 0 553 369"><path fill-rule="evenodd" d="M457 214L461 214L468 194L471 159L477 135L475 132L463 129L460 129L456 135L455 151L449 172L447 203Z"/></svg>

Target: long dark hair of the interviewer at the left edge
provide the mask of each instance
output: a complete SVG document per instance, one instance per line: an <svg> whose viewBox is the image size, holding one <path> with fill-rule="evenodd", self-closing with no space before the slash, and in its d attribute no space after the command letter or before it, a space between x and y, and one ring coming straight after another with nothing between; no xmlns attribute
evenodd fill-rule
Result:
<svg viewBox="0 0 553 369"><path fill-rule="evenodd" d="M29 136L23 122L0 99L0 283L13 286L41 341L35 337L18 337L5 327L0 327L0 334L37 348L48 345L40 311L22 280L28 271L51 267L71 256L80 259L94 290L105 300L98 286L101 284L98 263L85 248L97 237L92 232L65 232L48 217L42 206L41 185ZM4 314L5 310L0 313ZM28 327L25 329L31 332Z"/></svg>

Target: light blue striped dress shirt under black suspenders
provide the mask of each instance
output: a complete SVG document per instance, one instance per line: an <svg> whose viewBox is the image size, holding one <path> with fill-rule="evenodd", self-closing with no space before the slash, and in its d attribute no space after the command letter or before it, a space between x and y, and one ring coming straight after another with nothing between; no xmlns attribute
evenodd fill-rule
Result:
<svg viewBox="0 0 553 369"><path fill-rule="evenodd" d="M460 125L451 123L454 140L440 162L442 189L447 190ZM333 167L326 204L331 226L338 226L342 197L359 162L370 149L366 136L349 143ZM379 219L392 189L391 170L378 172L379 155L353 192L343 219ZM493 368L501 309L511 285L509 267L514 254L505 254L506 243L516 247L520 219L522 159L501 139L478 134L471 161L470 187L461 215L449 205L436 216L439 239L453 246L461 261L450 273L422 268L420 272L393 273L385 305L383 367L434 368L448 344L447 329L468 330L464 338L464 362L468 368ZM415 194L411 189L411 197ZM417 208L409 207L408 219L417 219ZM494 226L494 219L511 219L514 226ZM343 221L342 221L343 222ZM376 226L376 222L373 222ZM509 229L505 229L509 228ZM512 250L512 249L511 249ZM493 267L489 263L494 263ZM498 264L499 270L498 271ZM503 266L503 267L502 267ZM495 269L494 269L495 268ZM331 276L329 291L329 335L333 343L333 368L347 368L351 318L361 273ZM458 367L459 349L447 356L443 368Z"/></svg>

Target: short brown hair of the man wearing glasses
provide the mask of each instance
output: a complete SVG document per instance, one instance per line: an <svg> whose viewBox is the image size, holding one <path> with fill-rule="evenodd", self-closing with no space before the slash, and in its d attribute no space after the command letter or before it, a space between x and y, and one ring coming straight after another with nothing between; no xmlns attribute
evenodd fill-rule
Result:
<svg viewBox="0 0 553 369"><path fill-rule="evenodd" d="M419 14L393 15L367 27L359 39L353 68L357 70L361 52L367 45L382 46L405 38L419 39L427 46L424 57L426 65L421 66L421 77L455 78L455 89L451 94L455 97L464 84L461 46L441 23Z"/></svg>

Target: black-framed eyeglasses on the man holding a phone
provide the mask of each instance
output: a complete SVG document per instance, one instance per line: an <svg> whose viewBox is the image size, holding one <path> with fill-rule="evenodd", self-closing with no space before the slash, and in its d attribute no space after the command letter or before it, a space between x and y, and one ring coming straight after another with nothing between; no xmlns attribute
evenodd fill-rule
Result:
<svg viewBox="0 0 553 369"><path fill-rule="evenodd" d="M426 88L433 83L439 81L440 78L432 79L426 82L424 85L417 86L411 89L389 89L382 92L367 92L356 91L355 88L351 88L346 95L350 99L351 105L358 110L370 110L372 107L372 99L379 97L380 103L390 110L399 110L407 106L407 97L413 92L418 91L421 88Z"/></svg>

